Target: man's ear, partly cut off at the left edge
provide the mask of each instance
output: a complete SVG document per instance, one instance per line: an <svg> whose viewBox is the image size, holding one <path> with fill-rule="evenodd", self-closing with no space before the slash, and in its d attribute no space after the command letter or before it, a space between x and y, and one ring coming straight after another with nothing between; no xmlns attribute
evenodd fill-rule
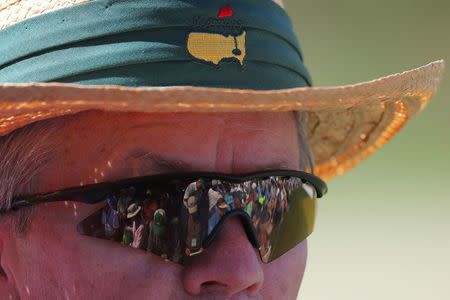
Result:
<svg viewBox="0 0 450 300"><path fill-rule="evenodd" d="M3 227L5 228L5 227ZM5 230L0 228L0 299L20 299L5 250Z"/></svg>

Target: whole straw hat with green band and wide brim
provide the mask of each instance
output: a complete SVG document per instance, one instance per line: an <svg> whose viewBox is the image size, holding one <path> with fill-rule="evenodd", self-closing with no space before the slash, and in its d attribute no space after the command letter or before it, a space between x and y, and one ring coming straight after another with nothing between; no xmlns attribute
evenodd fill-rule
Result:
<svg viewBox="0 0 450 300"><path fill-rule="evenodd" d="M120 11L124 11L125 6L119 9L121 5L131 7L131 4L127 4L131 2L134 6L152 5L151 3L153 3L153 1L139 0L6 0L1 2L0 39L7 42L0 43L2 44L0 45L0 136L32 122L74 114L88 109L142 112L303 111L308 115L306 127L316 164L314 171L324 179L329 179L342 174L365 159L388 142L410 118L419 113L435 94L444 69L443 61L435 61L410 71L369 82L338 87L312 88L310 87L309 75L302 64L299 45L296 45L296 41L293 41L293 31L291 28L286 29L285 12L270 0L235 1L232 2L233 6L229 4L230 1L224 0L198 1L198 4L192 4L192 1L185 0L167 0L165 2L168 3L168 6L158 10L159 14L154 18L164 19L165 10L171 12L167 13L167 18L173 16L172 19L175 20L171 19L171 22L174 23L191 22L192 16L189 14L192 13L195 17L197 11L205 15L204 19L196 19L195 22L197 23L192 25L184 44L175 45L166 40L170 36L161 35L161 40L158 40L160 42L157 45L158 47L161 45L166 48L174 45L177 47L175 47L175 50L170 48L167 52L158 53L166 55L169 52L172 54L181 51L176 52L176 55L182 56L183 59L185 56L189 57L186 64L190 64L189 67L199 69L194 69L192 74L186 75L184 78L191 77L191 75L197 76L197 74L202 74L203 71L206 72L205 74L210 74L207 72L219 74L221 71L228 72L227 74L234 74L233 72L235 72L237 76L224 76L224 78L228 81L236 80L237 82L241 80L239 76L242 75L243 79L236 84L230 81L231 83L224 83L224 86L220 86L220 80L218 80L219 83L211 81L202 86L198 82L186 83L187 79L185 81L174 79L173 84L163 82L162 84L147 85L138 81L137 83L121 84L121 82L117 83L116 80L122 80L125 76L119 78L120 76L115 75L110 76L114 79L111 82L92 78L84 81L55 80L59 82L53 82L50 77L45 77L45 70L47 69L35 69L39 64L33 62L39 62L39 59L45 59L47 55L50 59L46 60L46 63L57 61L57 59L52 60L51 58L52 55L57 55L59 51L62 51L63 54L66 53L63 57L67 59L67 65L72 62L71 67L78 67L77 59L80 60L80 65L82 65L81 60L85 58L82 55L93 53L98 47L102 46L100 44L89 44L89 38L97 38L94 36L94 31L113 30L106 28L107 26L98 26L98 24L114 24L108 25L113 27L128 26L126 25L127 22L94 24L94 21L100 22L99 20L104 18L102 21L106 22L109 20L107 18L114 13L119 14ZM158 5L165 5L161 4L165 2L158 1ZM186 5L182 10L186 12L186 17L183 14L177 14L179 11L175 13L170 11L174 5ZM199 7L196 7L196 5ZM266 13L261 14L261 18L267 19L270 24L265 24L263 19L259 20L258 14L249 13L248 16L251 16L249 20L244 19L242 21L239 19L247 16L244 10L248 7L251 8L252 5L258 5L257 9L267 10ZM100 11L100 7L103 10ZM114 10L114 8L117 9ZM89 20L86 17L86 20L80 21L80 16L86 15L86 11L84 11L84 15L80 13L83 9L92 11L99 9L100 12L105 13L96 11L95 17L91 17ZM213 12L214 10L215 12ZM131 16L142 11L149 13L151 16L156 10L141 9L126 12L130 15L130 19L126 19L126 21L130 21L131 18L145 21L145 18ZM273 16L271 15L272 12ZM88 24L91 21L94 23ZM151 21L154 20L151 19ZM217 33L211 31L211 22L216 22L214 24L217 26L214 30L219 28ZM248 25L250 23L251 25ZM83 27L85 25L92 25L92 27ZM264 26L266 25L268 30L256 32L258 28L265 29ZM283 35L285 31L276 32L278 35L269 35L270 30L278 30L276 29L277 26L285 30L286 35ZM70 34L62 34L66 31L58 31L59 28L63 27L64 30L78 30L74 32L80 33L80 36L76 37L76 41L70 40L70 38L75 37ZM83 30L84 28L89 28L89 30ZM228 29L230 32L223 32L223 30ZM81 36L86 32L92 34L92 37ZM152 34L157 34L157 32ZM267 47L263 45L259 48L252 48L258 45L259 41L258 39L252 39L255 34L261 36L265 34L266 36L259 40L267 41L267 45L272 40L277 39L279 45L274 45L279 47L277 49L280 49L280 54L267 58L269 54L273 55L274 53L271 50L273 48L269 47L272 44ZM123 36L122 38L126 39ZM118 39L120 38L118 37ZM103 45L106 45L104 41ZM61 44L55 44L58 42L61 42ZM61 48L61 45L69 42L84 42L85 44ZM41 48L33 48L37 44ZM220 49L217 46L219 44L221 45ZM85 46L84 48L89 46L91 47L89 49L94 50L83 53L74 52L84 49L79 47L80 45ZM152 44L152 47L156 47L155 45ZM163 48L158 48L158 51L161 49ZM148 49L136 50L136 53L147 55L146 50ZM225 57L220 51L229 51L231 54L229 54L229 57ZM286 53L282 51L286 51ZM275 52L278 53L278 50ZM133 55L136 53L133 53ZM71 60L73 57L75 60ZM98 59L90 57L90 63L104 63L103 57L99 56ZM128 56L117 57L124 59ZM282 61L280 61L280 57ZM302 77L299 77L298 82L303 80L303 83L294 84L280 81L279 86L257 86L269 78L267 76L270 76L270 74L267 71L255 73L258 76L264 73L264 75L261 75L267 77L264 77L264 80L257 78L254 83L250 82L254 77L250 74L252 68L256 65L257 60L263 60L263 58L266 60L273 59L270 64L264 61L264 67L267 68L278 68L277 70L279 70L281 69L279 66L285 63L284 69L280 72L288 74L286 69L291 68L289 74L293 74L292 70L294 70ZM106 63L109 63L109 61L106 60ZM294 64L297 65L294 66ZM60 74L61 78L67 79L70 76L64 77L64 75L73 75L73 73L65 74L64 72L70 71L67 70L69 67L65 67L66 65L61 70L61 67L57 65L50 65L48 70L53 70L54 73L63 72ZM32 76L27 77L26 72L22 72L22 70L28 71L27 74L32 74ZM169 68L162 70L168 71ZM183 72L181 71L181 73ZM250 75L246 75L246 72L250 72ZM92 75L92 72L86 71L85 73ZM151 74L146 73L145 76L147 75L150 76ZM281 76L281 80L284 80L283 76ZM204 78L209 80L210 77L210 75L205 75ZM230 79L230 77L232 78ZM286 75L286 80L288 80L287 77L288 75ZM184 78L182 79L184 80ZM250 83L247 83L247 79ZM160 80L159 77L158 80ZM272 82L272 79L269 78L266 82Z"/></svg>

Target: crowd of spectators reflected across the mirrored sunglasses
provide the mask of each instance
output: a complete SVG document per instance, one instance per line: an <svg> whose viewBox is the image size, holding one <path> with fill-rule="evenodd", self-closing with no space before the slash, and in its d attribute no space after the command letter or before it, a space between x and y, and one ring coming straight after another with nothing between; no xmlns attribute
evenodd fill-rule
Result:
<svg viewBox="0 0 450 300"><path fill-rule="evenodd" d="M251 218L261 256L268 261L271 236L289 209L288 191L301 185L298 178L270 177L243 183L200 179L187 186L174 181L164 188L130 187L107 197L101 233L95 235L180 262L202 251L202 241L222 216L240 209Z"/></svg>

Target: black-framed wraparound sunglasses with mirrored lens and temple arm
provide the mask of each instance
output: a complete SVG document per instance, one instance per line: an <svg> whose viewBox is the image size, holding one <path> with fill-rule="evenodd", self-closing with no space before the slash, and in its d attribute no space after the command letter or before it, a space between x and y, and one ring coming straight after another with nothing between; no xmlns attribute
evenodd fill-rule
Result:
<svg viewBox="0 0 450 300"><path fill-rule="evenodd" d="M141 249L186 265L207 248L230 217L269 263L313 231L320 178L301 171L246 175L181 173L105 182L14 198L12 208L53 201L105 206L77 226L86 236Z"/></svg>

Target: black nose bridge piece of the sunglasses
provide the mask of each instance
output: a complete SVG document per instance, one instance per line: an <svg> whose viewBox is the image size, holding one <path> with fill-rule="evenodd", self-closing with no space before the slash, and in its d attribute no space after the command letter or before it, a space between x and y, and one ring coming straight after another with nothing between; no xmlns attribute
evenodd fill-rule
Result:
<svg viewBox="0 0 450 300"><path fill-rule="evenodd" d="M256 249L259 249L259 241L256 234L256 231L253 227L252 220L250 219L250 216L242 209L235 209L227 214L225 214L220 221L217 223L217 225L214 227L214 229L211 231L211 233L205 238L202 245L204 248L207 248L211 245L213 240L217 237L217 235L223 230L225 224L229 219L237 217L241 221L242 226L244 226L244 231L247 235L248 240L252 244L253 247Z"/></svg>

